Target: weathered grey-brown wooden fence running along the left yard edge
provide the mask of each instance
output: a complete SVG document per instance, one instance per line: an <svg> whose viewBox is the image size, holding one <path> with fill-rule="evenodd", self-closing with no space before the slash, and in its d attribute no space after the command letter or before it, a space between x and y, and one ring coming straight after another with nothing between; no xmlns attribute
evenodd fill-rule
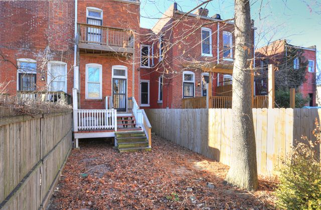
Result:
<svg viewBox="0 0 321 210"><path fill-rule="evenodd" d="M71 111L0 119L0 208L45 209L71 150Z"/></svg>

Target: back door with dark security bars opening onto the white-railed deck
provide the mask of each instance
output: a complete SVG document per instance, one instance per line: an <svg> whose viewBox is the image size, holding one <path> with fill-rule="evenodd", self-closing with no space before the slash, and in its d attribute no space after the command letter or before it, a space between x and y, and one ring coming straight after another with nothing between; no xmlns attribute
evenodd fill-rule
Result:
<svg viewBox="0 0 321 210"><path fill-rule="evenodd" d="M117 111L126 111L127 101L127 86L126 79L113 78L112 79L112 101L114 108Z"/></svg>

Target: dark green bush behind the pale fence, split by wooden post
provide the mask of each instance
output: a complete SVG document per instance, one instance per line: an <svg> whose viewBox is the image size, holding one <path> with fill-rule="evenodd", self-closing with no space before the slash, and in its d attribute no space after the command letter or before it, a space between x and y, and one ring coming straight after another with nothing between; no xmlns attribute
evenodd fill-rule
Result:
<svg viewBox="0 0 321 210"><path fill-rule="evenodd" d="M309 97L304 98L301 93L295 93L295 107L301 108L308 101ZM279 107L289 108L290 107L290 91L288 89L283 90L279 89L275 91L275 103L279 105Z"/></svg>

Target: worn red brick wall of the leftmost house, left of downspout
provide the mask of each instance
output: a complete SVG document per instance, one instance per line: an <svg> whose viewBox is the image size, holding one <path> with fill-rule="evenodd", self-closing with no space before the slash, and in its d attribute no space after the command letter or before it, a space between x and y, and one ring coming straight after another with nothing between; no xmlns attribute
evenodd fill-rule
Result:
<svg viewBox="0 0 321 210"><path fill-rule="evenodd" d="M46 83L41 81L41 75L47 78L47 65L44 71L40 69L47 55L48 61L67 63L67 92L72 93L74 9L73 1L0 2L0 51L10 61L0 62L0 83L5 83L4 92L16 94L19 58L37 61L37 89L44 89Z"/></svg>

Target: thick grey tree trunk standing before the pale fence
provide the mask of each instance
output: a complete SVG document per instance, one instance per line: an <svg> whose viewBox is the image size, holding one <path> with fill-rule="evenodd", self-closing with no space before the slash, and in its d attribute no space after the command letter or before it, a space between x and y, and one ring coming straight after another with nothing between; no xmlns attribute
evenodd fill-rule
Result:
<svg viewBox="0 0 321 210"><path fill-rule="evenodd" d="M233 156L225 182L242 189L256 190L258 180L249 61L253 52L253 35L249 0L235 0L234 20Z"/></svg>

